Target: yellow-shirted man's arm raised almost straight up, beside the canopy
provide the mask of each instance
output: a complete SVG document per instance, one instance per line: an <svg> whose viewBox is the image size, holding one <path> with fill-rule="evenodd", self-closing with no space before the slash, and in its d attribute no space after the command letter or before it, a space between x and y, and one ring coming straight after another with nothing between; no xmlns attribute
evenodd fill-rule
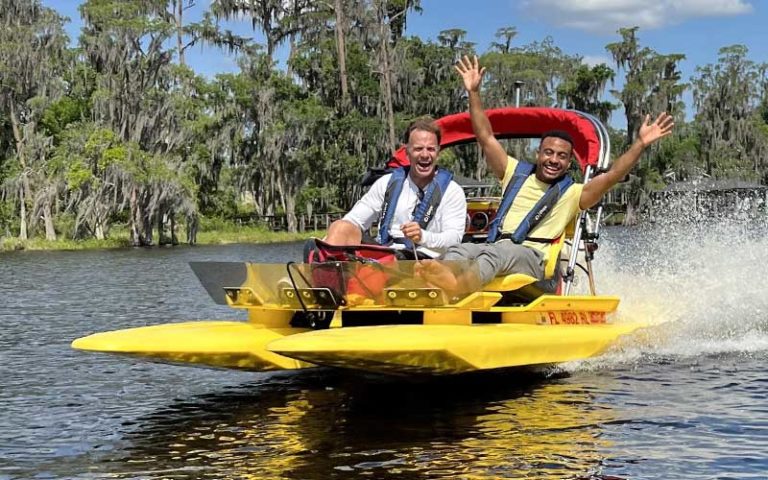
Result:
<svg viewBox="0 0 768 480"><path fill-rule="evenodd" d="M472 60L468 56L459 60L456 65L456 71L461 75L464 81L464 88L469 95L469 117L472 120L472 130L477 137L477 143L485 155L485 161L488 168L494 175L501 180L504 178L504 172L507 170L507 152L501 146L496 137L493 136L491 122L485 115L483 101L480 98L480 84L483 80L485 68L480 68L477 56Z"/></svg>

